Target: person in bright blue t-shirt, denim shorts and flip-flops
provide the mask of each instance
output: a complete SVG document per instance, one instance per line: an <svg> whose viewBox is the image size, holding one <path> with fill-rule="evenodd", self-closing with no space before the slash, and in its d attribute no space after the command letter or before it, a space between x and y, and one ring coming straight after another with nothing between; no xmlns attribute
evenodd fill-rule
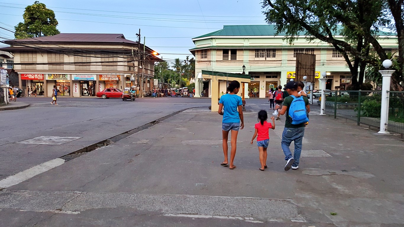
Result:
<svg viewBox="0 0 404 227"><path fill-rule="evenodd" d="M242 110L242 100L241 97L237 95L240 91L240 83L236 80L231 81L227 90L230 92L220 97L219 100L219 114L223 115L222 121L222 138L223 138L223 154L225 160L220 163L224 167L229 167L229 169L234 169L234 157L236 156L237 148L237 135L238 130L244 128L244 117ZM241 125L240 125L241 121ZM231 150L230 150L230 164L227 157L227 140L229 137L229 131L231 131Z"/></svg>

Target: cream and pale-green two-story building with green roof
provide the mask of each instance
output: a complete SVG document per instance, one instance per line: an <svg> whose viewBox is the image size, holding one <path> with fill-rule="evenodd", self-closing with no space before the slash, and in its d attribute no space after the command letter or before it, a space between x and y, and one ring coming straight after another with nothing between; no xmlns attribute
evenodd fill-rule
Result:
<svg viewBox="0 0 404 227"><path fill-rule="evenodd" d="M201 35L192 39L195 48L190 51L196 58L196 96L202 90L208 90L210 82L198 78L202 70L226 73L245 73L251 76L245 86L245 98L267 97L272 87L282 87L295 78L296 54L316 55L316 79L314 90L322 89L318 78L326 72L328 81L326 89L345 90L351 82L351 73L340 52L332 45L320 40L307 41L300 35L293 44L289 44L285 34L276 34L274 25L225 25L223 29ZM336 34L336 38L343 36ZM397 36L381 32L379 42L388 52L397 52ZM226 84L220 85L220 92L226 93Z"/></svg>

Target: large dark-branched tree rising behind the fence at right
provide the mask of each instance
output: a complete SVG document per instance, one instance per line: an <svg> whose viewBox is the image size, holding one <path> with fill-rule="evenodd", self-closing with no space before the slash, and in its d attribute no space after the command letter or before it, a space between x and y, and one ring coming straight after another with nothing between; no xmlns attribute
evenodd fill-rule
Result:
<svg viewBox="0 0 404 227"><path fill-rule="evenodd" d="M375 62L369 54L370 49L373 48L382 60L387 59L377 40L381 29L391 27L391 6L387 1L392 2L398 11L396 14L401 15L398 17L401 19L393 17L397 29L401 29L403 0L265 0L262 6L266 10L267 23L274 24L278 33L285 32L290 43L297 35L305 34L308 40L317 38L339 50L351 71L352 87L360 89L366 66ZM402 33L404 38L404 31ZM345 38L338 38L337 34ZM398 34L397 64L398 69L403 69L404 60L400 58L404 54L404 41L400 41L400 32ZM394 90L402 89L403 71L396 72L392 78Z"/></svg>

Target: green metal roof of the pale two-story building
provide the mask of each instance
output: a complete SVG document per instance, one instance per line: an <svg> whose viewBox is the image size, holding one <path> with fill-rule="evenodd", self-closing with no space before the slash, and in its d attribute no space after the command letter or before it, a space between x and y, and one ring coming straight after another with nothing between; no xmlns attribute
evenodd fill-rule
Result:
<svg viewBox="0 0 404 227"><path fill-rule="evenodd" d="M342 28L341 25L339 27ZM223 29L219 31L214 31L211 33L207 33L205 35L200 35L197 38L208 37L208 36L272 36L276 34L275 25L224 25ZM284 36L286 35L284 32L279 33L278 35ZM300 32L298 35L305 35L305 32ZM338 35L338 34L335 34ZM379 35L397 35L396 33L390 33L381 31Z"/></svg>

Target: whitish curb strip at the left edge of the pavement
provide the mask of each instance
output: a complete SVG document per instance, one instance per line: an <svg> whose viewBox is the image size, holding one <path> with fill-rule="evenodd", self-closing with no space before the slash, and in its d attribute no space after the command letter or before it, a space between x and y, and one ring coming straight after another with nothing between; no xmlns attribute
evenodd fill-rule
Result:
<svg viewBox="0 0 404 227"><path fill-rule="evenodd" d="M63 163L65 163L65 160L63 160L61 158L55 158L53 160L36 165L32 168L19 172L15 175L9 176L5 179L2 179L0 181L0 187L4 187L4 188L11 187L11 186L21 183L27 179L35 177L36 175L38 175L40 173L44 173L50 169L60 166Z"/></svg>

